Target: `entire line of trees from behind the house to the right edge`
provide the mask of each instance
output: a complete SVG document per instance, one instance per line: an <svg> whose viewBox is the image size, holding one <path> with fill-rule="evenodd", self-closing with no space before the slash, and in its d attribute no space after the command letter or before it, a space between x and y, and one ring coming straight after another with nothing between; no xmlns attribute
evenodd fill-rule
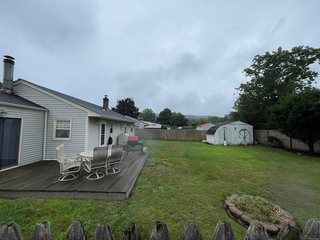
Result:
<svg viewBox="0 0 320 240"><path fill-rule="evenodd" d="M320 48L309 46L295 46L291 50L279 47L255 55L252 64L243 70L250 79L235 88L234 111L223 117L187 119L169 108L156 116L150 108L139 112L132 98L118 100L112 110L164 127L241 120L255 129L275 129L299 139L314 152L313 144L320 140L320 90L314 86L318 72L311 69L316 63L320 63Z"/></svg>

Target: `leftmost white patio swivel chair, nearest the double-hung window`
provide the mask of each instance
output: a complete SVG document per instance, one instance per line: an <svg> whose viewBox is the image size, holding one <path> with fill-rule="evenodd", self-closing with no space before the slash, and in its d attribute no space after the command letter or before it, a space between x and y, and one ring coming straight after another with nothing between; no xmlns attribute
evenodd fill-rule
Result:
<svg viewBox="0 0 320 240"><path fill-rule="evenodd" d="M58 145L55 147L56 159L60 165L59 181L73 180L79 176L82 169L82 161L77 156L67 157L64 153L64 145Z"/></svg>

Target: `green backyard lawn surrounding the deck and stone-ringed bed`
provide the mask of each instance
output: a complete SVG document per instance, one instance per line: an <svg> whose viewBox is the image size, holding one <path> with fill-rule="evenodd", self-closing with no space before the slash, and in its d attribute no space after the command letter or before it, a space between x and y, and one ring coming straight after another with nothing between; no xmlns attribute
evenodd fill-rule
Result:
<svg viewBox="0 0 320 240"><path fill-rule="evenodd" d="M230 194L259 196L279 204L304 228L320 219L320 159L281 149L220 146L203 142L147 140L147 161L125 201L48 198L0 199L0 225L14 221L24 239L35 224L50 221L51 238L64 239L70 224L83 222L88 239L98 223L109 224L116 240L131 222L143 239L163 220L171 239L179 239L187 220L196 220L204 239L212 239L218 220L231 223L236 239L246 229L223 209Z"/></svg>

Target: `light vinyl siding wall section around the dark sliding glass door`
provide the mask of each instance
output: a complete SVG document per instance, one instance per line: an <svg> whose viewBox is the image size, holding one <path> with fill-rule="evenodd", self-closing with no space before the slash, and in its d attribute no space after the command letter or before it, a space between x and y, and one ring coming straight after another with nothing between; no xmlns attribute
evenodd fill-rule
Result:
<svg viewBox="0 0 320 240"><path fill-rule="evenodd" d="M44 110L6 106L8 117L20 118L19 165L42 160Z"/></svg>

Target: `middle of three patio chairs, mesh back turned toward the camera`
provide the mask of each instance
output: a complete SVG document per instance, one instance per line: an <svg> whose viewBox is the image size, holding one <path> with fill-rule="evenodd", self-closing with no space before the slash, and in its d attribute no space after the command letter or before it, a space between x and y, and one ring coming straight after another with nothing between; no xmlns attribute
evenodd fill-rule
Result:
<svg viewBox="0 0 320 240"><path fill-rule="evenodd" d="M100 168L107 168L107 154L108 154L108 147L94 147L93 148L93 157L91 159L83 158L85 160L83 169L87 172L94 170L93 173L86 176L89 180L96 180L100 179L104 176L103 172L98 171Z"/></svg>

